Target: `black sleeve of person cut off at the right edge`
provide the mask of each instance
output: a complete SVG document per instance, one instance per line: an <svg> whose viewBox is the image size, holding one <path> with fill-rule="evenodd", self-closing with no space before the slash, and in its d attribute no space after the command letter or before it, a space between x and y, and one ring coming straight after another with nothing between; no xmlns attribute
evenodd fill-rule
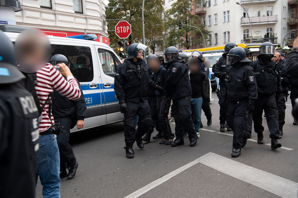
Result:
<svg viewBox="0 0 298 198"><path fill-rule="evenodd" d="M298 78L298 50L291 50L285 59L285 72L290 77Z"/></svg>

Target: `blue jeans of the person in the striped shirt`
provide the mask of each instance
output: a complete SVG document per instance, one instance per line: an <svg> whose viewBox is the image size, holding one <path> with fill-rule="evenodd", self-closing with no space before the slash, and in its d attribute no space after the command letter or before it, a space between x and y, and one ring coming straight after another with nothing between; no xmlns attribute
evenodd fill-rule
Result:
<svg viewBox="0 0 298 198"><path fill-rule="evenodd" d="M36 174L43 186L42 195L60 198L60 156L56 135L39 136L39 150L36 160ZM36 176L37 182L37 176Z"/></svg>

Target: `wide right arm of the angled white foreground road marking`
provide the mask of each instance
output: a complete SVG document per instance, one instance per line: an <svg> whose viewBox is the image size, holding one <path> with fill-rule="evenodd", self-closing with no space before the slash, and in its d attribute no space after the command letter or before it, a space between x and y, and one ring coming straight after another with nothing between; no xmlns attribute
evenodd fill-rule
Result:
<svg viewBox="0 0 298 198"><path fill-rule="evenodd" d="M207 153L198 161L229 176L258 186L281 197L298 196L298 183L261 171L215 153Z"/></svg>

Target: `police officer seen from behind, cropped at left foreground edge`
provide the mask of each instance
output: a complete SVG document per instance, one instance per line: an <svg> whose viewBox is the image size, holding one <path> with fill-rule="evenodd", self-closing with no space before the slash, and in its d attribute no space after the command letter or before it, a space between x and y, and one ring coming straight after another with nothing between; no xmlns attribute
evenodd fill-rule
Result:
<svg viewBox="0 0 298 198"><path fill-rule="evenodd" d="M32 95L17 82L13 43L0 30L1 197L35 197L39 112Z"/></svg>

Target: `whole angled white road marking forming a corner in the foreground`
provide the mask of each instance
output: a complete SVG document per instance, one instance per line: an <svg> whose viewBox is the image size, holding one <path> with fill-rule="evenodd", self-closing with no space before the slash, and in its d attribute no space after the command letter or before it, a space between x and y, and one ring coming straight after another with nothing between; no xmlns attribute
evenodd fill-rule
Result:
<svg viewBox="0 0 298 198"><path fill-rule="evenodd" d="M254 186L262 188L269 191L275 195L281 197L295 197L298 196L298 183L294 181L287 180L283 177L273 175L271 173L261 171L251 166L239 163L237 161L228 159L226 157L217 155L215 153L209 152L204 156L170 172L169 174L151 182L150 184L144 186L143 188L131 193L125 198L136 198L144 193L150 191L154 187L164 183L170 178L176 176L180 172L196 165L197 163L202 163L209 166L217 171L221 171L229 176L237 178L239 180L250 183Z"/></svg>

